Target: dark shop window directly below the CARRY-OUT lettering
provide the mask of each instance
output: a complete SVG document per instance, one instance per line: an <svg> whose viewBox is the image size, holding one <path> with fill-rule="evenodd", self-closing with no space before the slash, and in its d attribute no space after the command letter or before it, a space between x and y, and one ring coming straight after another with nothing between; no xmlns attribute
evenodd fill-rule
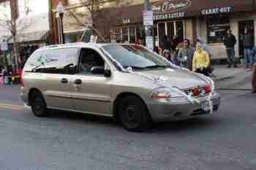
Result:
<svg viewBox="0 0 256 170"><path fill-rule="evenodd" d="M228 29L230 29L230 18L225 16L208 17L207 39L208 43L222 43Z"/></svg>

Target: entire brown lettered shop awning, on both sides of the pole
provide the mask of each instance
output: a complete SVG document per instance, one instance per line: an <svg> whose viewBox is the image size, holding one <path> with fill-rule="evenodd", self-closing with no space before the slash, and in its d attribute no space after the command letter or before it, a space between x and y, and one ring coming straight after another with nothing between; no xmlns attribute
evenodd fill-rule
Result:
<svg viewBox="0 0 256 170"><path fill-rule="evenodd" d="M164 0L151 3L154 20L219 15L255 10L252 0ZM94 18L97 26L108 23L118 26L143 22L143 4L102 9Z"/></svg>

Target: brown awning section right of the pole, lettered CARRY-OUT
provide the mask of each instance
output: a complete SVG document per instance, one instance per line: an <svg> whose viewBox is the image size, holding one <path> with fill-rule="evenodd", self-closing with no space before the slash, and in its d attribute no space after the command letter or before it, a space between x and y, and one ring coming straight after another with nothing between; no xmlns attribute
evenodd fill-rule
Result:
<svg viewBox="0 0 256 170"><path fill-rule="evenodd" d="M153 3L154 20L252 11L252 0L165 0Z"/></svg>

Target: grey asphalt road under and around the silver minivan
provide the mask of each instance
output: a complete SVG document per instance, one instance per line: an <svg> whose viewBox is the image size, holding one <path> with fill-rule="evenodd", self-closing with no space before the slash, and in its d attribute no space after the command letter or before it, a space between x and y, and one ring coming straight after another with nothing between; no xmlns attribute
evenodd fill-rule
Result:
<svg viewBox="0 0 256 170"><path fill-rule="evenodd" d="M235 88L235 86L233 86ZM249 80L236 88L249 87ZM0 86L1 170L255 170L256 95L220 90L214 115L130 133L105 117L34 117Z"/></svg>

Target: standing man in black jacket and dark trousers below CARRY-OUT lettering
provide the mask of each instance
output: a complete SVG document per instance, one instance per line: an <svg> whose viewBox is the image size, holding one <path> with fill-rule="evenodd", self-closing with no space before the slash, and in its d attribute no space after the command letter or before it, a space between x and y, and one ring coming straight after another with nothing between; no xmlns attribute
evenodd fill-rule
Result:
<svg viewBox="0 0 256 170"><path fill-rule="evenodd" d="M224 45L227 51L227 60L228 66L227 68L231 68L232 64L236 68L236 61L235 61L235 45L236 45L236 36L232 34L232 31L229 29L227 30L227 35L223 38Z"/></svg>

